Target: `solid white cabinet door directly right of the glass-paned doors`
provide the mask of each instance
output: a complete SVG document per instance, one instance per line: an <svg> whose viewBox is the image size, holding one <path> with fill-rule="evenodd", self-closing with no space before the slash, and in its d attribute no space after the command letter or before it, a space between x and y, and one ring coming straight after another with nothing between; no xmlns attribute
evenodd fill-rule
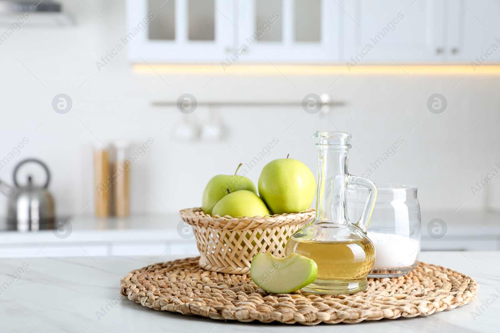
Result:
<svg viewBox="0 0 500 333"><path fill-rule="evenodd" d="M447 0L344 0L343 62L436 63L443 60ZM413 3L412 3L413 2Z"/></svg>

